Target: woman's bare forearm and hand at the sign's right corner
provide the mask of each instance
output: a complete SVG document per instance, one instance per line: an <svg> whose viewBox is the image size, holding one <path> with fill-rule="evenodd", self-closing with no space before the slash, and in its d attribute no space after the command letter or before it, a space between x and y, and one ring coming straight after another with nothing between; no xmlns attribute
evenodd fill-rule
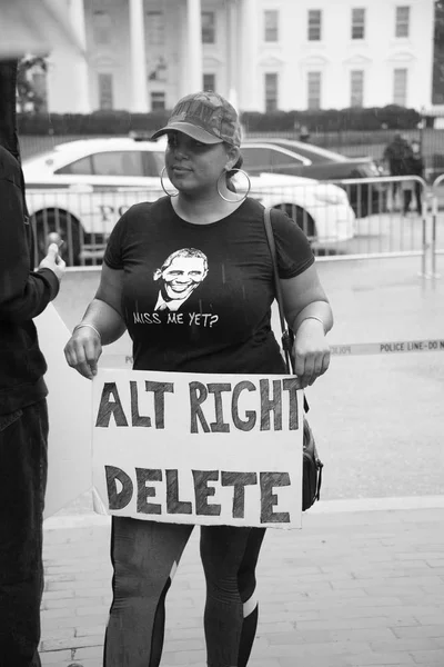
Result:
<svg viewBox="0 0 444 667"><path fill-rule="evenodd" d="M303 389L329 368L325 334L333 327L333 313L314 266L281 279L281 287L285 319L294 332L295 374Z"/></svg>

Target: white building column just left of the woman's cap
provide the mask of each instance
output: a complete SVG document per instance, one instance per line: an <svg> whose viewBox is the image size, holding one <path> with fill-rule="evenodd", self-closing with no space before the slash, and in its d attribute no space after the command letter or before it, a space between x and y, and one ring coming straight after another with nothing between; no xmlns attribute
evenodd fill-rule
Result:
<svg viewBox="0 0 444 667"><path fill-rule="evenodd" d="M148 80L143 0L130 2L131 111L147 113Z"/></svg>

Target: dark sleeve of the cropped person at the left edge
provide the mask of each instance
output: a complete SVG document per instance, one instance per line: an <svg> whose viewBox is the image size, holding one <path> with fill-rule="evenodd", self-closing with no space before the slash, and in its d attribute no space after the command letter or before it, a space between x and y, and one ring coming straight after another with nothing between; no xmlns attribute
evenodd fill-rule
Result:
<svg viewBox="0 0 444 667"><path fill-rule="evenodd" d="M8 160L0 165L0 321L21 323L44 310L59 291L59 280L50 269L30 270L23 196L18 182L4 176Z"/></svg>

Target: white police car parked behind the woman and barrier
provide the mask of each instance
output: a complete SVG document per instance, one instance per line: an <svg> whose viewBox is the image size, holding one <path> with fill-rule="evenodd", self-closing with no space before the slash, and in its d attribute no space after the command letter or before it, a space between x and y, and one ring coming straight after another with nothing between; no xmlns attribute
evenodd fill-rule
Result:
<svg viewBox="0 0 444 667"><path fill-rule="evenodd" d="M165 138L85 139L62 143L23 162L28 209L39 253L50 232L65 240L69 263L103 253L119 217L138 201L163 196L160 172ZM242 189L238 175L238 187ZM346 192L314 179L261 172L251 176L250 195L284 209L314 248L351 239L355 216Z"/></svg>

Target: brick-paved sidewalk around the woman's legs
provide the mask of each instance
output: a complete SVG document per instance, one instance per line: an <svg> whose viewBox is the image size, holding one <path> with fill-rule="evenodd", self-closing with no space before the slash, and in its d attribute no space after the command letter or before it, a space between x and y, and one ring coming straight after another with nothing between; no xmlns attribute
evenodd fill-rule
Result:
<svg viewBox="0 0 444 667"><path fill-rule="evenodd" d="M269 530L251 667L443 667L444 497L320 502ZM205 665L195 530L168 598L162 667ZM100 667L111 599L109 519L44 529L43 667Z"/></svg>

